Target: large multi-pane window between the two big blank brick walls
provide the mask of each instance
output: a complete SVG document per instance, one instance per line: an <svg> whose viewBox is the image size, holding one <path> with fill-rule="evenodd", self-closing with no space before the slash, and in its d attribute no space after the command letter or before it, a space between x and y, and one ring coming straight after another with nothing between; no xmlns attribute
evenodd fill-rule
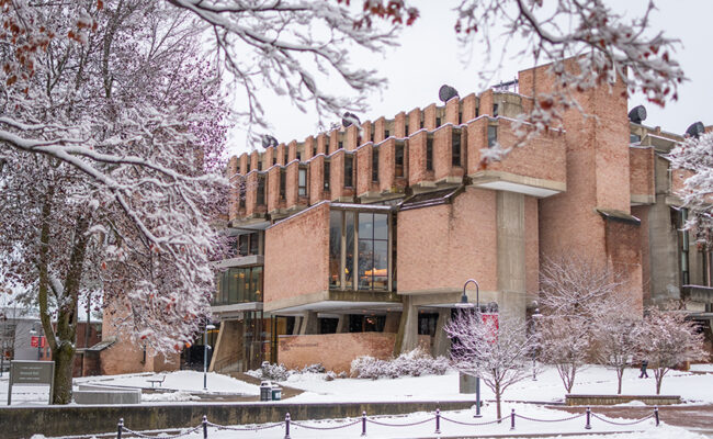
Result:
<svg viewBox="0 0 713 439"><path fill-rule="evenodd" d="M388 290L388 239L387 213L331 211L330 288Z"/></svg>

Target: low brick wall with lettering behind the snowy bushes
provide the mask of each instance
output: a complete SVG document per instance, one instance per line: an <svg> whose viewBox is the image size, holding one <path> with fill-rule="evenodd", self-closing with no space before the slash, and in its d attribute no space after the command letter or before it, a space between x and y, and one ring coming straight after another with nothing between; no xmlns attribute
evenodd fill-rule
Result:
<svg viewBox="0 0 713 439"><path fill-rule="evenodd" d="M356 357L371 356L382 360L394 352L396 334L348 333L307 336L281 336L278 361L288 369L302 369L320 362L327 370L350 372ZM419 346L430 351L430 337L419 336Z"/></svg>

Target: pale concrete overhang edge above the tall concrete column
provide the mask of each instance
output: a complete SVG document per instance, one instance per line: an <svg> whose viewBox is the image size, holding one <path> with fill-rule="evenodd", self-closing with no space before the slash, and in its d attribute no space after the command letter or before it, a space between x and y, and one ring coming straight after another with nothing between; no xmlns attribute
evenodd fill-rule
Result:
<svg viewBox="0 0 713 439"><path fill-rule="evenodd" d="M517 192L537 198L556 195L567 190L565 182L518 176L505 171L487 170L468 177L476 188Z"/></svg>

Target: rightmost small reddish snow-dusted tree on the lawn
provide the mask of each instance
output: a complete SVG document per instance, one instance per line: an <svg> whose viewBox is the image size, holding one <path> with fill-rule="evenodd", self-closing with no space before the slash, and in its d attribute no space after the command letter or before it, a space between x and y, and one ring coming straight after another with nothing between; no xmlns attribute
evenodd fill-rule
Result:
<svg viewBox="0 0 713 439"><path fill-rule="evenodd" d="M709 357L703 348L703 334L695 322L686 318L682 311L663 311L652 307L636 331L638 357L647 360L656 379L656 394L668 371L688 361Z"/></svg>

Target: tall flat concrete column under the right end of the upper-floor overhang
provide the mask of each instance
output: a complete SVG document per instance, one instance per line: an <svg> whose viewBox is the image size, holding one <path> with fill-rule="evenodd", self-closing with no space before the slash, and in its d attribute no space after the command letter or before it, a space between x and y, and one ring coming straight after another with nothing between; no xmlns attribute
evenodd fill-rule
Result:
<svg viewBox="0 0 713 439"><path fill-rule="evenodd" d="M524 195L498 191L498 311L501 317L525 316Z"/></svg>

